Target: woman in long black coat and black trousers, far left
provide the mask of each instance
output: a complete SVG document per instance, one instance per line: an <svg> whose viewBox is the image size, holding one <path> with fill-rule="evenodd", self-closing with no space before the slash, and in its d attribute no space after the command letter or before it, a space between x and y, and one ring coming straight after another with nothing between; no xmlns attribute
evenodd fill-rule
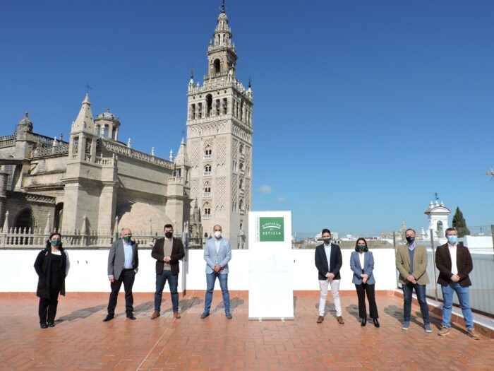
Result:
<svg viewBox="0 0 494 371"><path fill-rule="evenodd" d="M38 313L42 329L55 326L56 305L59 294L65 295L65 277L69 266L60 233L52 233L47 240L47 247L41 250L35 261L38 275L36 295L40 297Z"/></svg>

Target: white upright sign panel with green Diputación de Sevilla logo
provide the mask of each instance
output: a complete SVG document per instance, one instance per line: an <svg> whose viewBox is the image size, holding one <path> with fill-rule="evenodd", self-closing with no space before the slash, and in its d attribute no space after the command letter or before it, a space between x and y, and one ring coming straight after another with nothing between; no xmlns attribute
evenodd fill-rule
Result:
<svg viewBox="0 0 494 371"><path fill-rule="evenodd" d="M248 226L248 319L294 319L291 211L249 211Z"/></svg>

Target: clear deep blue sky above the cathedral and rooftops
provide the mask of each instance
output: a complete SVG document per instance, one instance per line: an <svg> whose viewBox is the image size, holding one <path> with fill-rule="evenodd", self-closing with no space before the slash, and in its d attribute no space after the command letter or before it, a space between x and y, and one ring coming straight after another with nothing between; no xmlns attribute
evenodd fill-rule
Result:
<svg viewBox="0 0 494 371"><path fill-rule="evenodd" d="M375 235L427 227L438 192L469 225L494 223L493 1L226 4L237 78L253 79L254 210L291 210L302 235ZM67 138L89 82L121 141L168 158L220 5L4 1L0 135L28 110Z"/></svg>

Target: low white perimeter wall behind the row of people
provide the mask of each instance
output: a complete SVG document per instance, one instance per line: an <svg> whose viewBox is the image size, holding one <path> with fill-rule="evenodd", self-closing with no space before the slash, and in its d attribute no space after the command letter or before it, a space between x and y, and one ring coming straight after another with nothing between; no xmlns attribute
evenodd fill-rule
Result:
<svg viewBox="0 0 494 371"><path fill-rule="evenodd" d="M37 274L33 264L40 250L0 250L0 292L35 292ZM67 292L109 292L107 276L108 250L67 250L71 269L66 279ZM342 250L343 266L340 271L340 290L355 290L351 283L350 254L353 250ZM249 250L233 250L229 262L229 290L248 290ZM319 290L318 271L314 265L313 249L291 250L294 259L294 290ZM394 249L374 249L374 276L376 290L396 288ZM186 262L186 289L205 290L205 261L203 250L189 250ZM183 290L183 261L180 266L179 291ZM219 283L215 286L219 290ZM123 291L123 288L121 288ZM134 292L155 291L155 259L150 249L139 251L139 271L135 276ZM168 291L168 285L165 286Z"/></svg>

